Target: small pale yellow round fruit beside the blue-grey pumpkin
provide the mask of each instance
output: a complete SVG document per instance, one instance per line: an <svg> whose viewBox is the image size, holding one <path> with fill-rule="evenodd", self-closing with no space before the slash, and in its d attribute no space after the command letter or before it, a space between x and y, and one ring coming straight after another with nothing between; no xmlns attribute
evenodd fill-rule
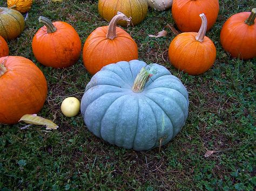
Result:
<svg viewBox="0 0 256 191"><path fill-rule="evenodd" d="M76 97L67 97L60 108L66 117L74 117L80 111L80 102Z"/></svg>

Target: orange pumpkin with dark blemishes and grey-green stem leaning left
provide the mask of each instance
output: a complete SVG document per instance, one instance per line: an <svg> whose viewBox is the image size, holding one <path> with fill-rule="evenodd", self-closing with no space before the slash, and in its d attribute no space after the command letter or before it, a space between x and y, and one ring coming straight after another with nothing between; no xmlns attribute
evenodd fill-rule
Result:
<svg viewBox="0 0 256 191"><path fill-rule="evenodd" d="M53 68L66 68L74 65L82 49L76 30L66 22L51 22L39 17L43 23L32 40L32 51L38 62Z"/></svg>

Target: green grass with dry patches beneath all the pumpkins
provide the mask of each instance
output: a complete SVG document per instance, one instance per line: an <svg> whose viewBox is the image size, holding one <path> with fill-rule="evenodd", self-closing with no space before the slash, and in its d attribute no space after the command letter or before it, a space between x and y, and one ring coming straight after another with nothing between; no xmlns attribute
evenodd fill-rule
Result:
<svg viewBox="0 0 256 191"><path fill-rule="evenodd" d="M152 39L167 23L171 11L149 10L144 22L125 29L139 47L139 59L166 66L185 84L190 96L184 128L170 143L135 152L105 143L90 133L81 115L67 118L60 112L65 97L83 96L90 81L82 57L68 69L40 65L31 41L42 25L39 16L69 22L82 44L98 26L107 25L97 12L97 1L52 3L35 0L24 32L8 41L10 55L29 58L48 81L48 98L39 116L59 125L56 131L25 124L0 124L0 188L2 190L253 190L255 178L256 59L232 59L220 45L225 20L250 11L252 0L221 0L217 23L206 35L217 47L212 69L189 76L174 69L167 49L174 34ZM6 6L1 2L0 6ZM207 150L221 151L204 157Z"/></svg>

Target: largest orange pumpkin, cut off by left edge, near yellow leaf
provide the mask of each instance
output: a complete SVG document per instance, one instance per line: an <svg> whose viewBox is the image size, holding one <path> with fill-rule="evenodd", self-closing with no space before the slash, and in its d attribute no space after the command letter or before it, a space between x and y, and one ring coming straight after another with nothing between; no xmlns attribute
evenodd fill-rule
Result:
<svg viewBox="0 0 256 191"><path fill-rule="evenodd" d="M41 70L22 56L0 58L0 123L15 124L25 114L37 114L47 96Z"/></svg>

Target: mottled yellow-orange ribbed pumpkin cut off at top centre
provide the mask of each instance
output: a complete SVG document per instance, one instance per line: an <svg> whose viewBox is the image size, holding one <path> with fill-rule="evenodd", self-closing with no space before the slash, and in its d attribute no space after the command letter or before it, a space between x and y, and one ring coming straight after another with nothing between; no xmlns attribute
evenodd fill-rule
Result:
<svg viewBox="0 0 256 191"><path fill-rule="evenodd" d="M147 16L147 0L99 0L98 12L101 17L110 21L117 12L123 12L132 18L132 25L142 22ZM118 25L126 26L125 20L120 20Z"/></svg>

